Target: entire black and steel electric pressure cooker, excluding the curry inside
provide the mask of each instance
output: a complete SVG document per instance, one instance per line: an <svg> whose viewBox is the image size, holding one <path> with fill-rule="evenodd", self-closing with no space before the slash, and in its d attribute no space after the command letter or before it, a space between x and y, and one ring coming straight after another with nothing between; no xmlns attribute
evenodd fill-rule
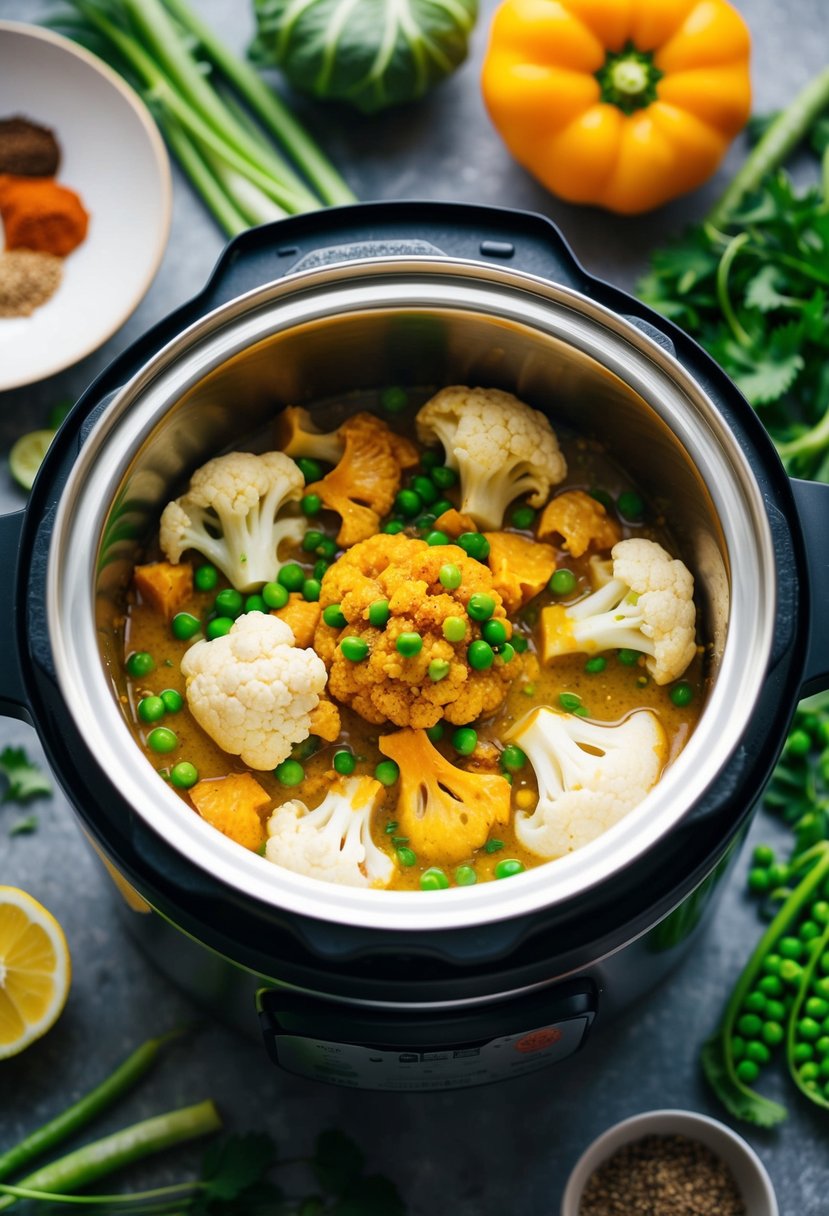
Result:
<svg viewBox="0 0 829 1216"><path fill-rule="evenodd" d="M686 749L621 823L508 882L376 891L277 869L158 778L120 699L131 568L192 471L283 405L390 383L509 389L607 441L697 580L711 681ZM280 1065L476 1085L588 1043L693 940L797 699L829 686L828 513L829 486L786 478L716 364L543 218L377 203L283 220L237 237L103 372L0 520L2 708L36 727L150 955L259 1021Z"/></svg>

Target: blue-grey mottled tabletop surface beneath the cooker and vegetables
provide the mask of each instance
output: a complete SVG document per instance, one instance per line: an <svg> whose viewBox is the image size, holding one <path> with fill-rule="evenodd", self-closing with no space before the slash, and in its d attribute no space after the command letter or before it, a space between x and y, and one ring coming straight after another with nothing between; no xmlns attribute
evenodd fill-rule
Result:
<svg viewBox="0 0 829 1216"><path fill-rule="evenodd" d="M0 17L40 19L50 0L0 0ZM249 32L248 5L198 0L232 44ZM478 69L492 0L474 38L470 61L418 107L374 120L301 106L362 198L446 198L521 207L557 220L587 268L631 287L648 250L701 215L740 161L741 145L704 190L641 219L624 220L549 198L513 164L484 113ZM738 0L754 34L756 109L793 96L827 61L825 0ZM186 184L175 181L175 214L164 264L128 325L100 351L61 376L0 394L0 450L44 426L49 406L77 395L96 371L156 319L203 282L221 248L213 221ZM0 510L22 501L0 467ZM0 722L0 745L39 755L34 733ZM193 1017L113 919L108 883L60 792L36 806L34 835L7 837L17 810L0 806L0 882L29 890L60 918L69 939L74 980L58 1025L24 1055L0 1064L0 1145L39 1124L119 1060L146 1035ZM761 812L751 839L773 838ZM229 1127L265 1127L289 1156L308 1150L323 1127L350 1131L373 1167L395 1178L413 1216L548 1216L558 1212L566 1173L582 1148L609 1124L655 1107L684 1107L720 1116L697 1066L698 1048L758 935L743 896L745 858L718 913L683 969L659 992L597 1037L588 1052L554 1070L485 1091L385 1097L321 1088L277 1074L261 1048L208 1023L176 1049L117 1113L109 1130L151 1113L214 1097ZM776 1132L740 1128L766 1161L784 1216L829 1212L825 1114L800 1102L785 1079L790 1120ZM130 1176L134 1184L170 1181L193 1156L175 1155Z"/></svg>

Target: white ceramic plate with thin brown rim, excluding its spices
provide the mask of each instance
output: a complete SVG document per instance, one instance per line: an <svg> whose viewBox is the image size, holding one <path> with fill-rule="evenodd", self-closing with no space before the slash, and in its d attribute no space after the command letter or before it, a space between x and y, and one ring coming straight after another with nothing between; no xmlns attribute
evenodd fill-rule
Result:
<svg viewBox="0 0 829 1216"><path fill-rule="evenodd" d="M95 55L36 26L0 21L0 118L50 126L57 180L90 213L55 295L0 317L0 390L52 376L96 350L152 282L170 227L170 164L143 102Z"/></svg>

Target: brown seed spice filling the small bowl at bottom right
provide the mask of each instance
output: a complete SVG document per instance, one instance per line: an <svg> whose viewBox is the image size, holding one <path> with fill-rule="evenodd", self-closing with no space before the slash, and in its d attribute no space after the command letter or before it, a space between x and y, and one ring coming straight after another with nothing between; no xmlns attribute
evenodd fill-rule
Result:
<svg viewBox="0 0 829 1216"><path fill-rule="evenodd" d="M593 1171L579 1216L748 1216L734 1177L687 1136L645 1136Z"/></svg>

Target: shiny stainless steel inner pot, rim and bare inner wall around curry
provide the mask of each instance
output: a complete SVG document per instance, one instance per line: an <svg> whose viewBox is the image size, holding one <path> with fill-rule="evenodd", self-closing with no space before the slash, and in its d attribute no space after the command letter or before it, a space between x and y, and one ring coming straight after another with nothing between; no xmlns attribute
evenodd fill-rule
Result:
<svg viewBox="0 0 829 1216"><path fill-rule="evenodd" d="M712 642L701 721L647 800L593 844L509 883L441 893L318 883L230 843L159 779L119 702L113 621L164 503L205 458L288 404L388 383L500 387L597 437L664 505ZM47 619L57 680L135 814L246 899L340 924L483 925L568 900L649 850L722 778L772 646L776 565L762 497L734 434L689 373L631 321L546 280L446 258L306 270L204 316L109 401L61 499Z"/></svg>

